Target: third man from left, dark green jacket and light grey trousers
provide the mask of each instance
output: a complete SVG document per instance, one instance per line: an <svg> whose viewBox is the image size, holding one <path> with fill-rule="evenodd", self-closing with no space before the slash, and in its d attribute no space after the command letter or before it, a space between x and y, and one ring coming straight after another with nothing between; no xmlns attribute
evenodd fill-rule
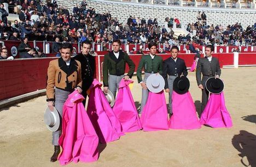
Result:
<svg viewBox="0 0 256 167"><path fill-rule="evenodd" d="M128 80L132 77L135 70L135 64L127 53L120 50L121 41L119 39L114 40L112 46L113 51L104 55L103 90L105 93L107 93L108 90L111 91L115 97L117 88L119 88L119 82L123 78ZM129 72L127 75L124 75L126 63L129 65Z"/></svg>

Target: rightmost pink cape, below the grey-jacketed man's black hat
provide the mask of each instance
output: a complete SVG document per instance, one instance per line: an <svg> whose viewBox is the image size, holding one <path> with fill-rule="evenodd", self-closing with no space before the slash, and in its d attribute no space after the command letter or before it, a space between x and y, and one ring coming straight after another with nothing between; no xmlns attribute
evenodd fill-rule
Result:
<svg viewBox="0 0 256 167"><path fill-rule="evenodd" d="M211 94L205 110L202 112L200 123L213 128L232 127L232 119L229 111L226 109L223 92L220 94Z"/></svg>

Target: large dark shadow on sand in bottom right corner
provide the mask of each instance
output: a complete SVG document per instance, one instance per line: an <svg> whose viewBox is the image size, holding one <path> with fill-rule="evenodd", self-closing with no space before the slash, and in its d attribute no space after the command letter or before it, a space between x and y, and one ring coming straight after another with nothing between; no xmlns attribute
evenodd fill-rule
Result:
<svg viewBox="0 0 256 167"><path fill-rule="evenodd" d="M240 130L240 134L233 136L232 145L240 152L238 156L244 166L256 166L256 135Z"/></svg>

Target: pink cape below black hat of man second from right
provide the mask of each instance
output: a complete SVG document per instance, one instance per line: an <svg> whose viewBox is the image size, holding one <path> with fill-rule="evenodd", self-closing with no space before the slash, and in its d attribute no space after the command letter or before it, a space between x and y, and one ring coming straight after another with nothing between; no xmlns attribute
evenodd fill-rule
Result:
<svg viewBox="0 0 256 167"><path fill-rule="evenodd" d="M170 129L200 129L201 124L196 115L194 101L189 92L178 94L172 92L172 113L169 120Z"/></svg>

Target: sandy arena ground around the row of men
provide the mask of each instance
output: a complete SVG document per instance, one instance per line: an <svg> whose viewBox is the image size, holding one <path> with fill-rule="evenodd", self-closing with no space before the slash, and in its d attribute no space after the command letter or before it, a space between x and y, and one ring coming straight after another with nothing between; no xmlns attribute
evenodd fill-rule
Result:
<svg viewBox="0 0 256 167"><path fill-rule="evenodd" d="M252 67L222 70L226 107L234 123L230 129L202 126L198 130L128 133L101 145L97 162L68 166L256 166L255 73ZM195 73L188 78L199 110L201 91ZM138 106L141 87L136 77L133 80ZM38 97L0 110L0 166L59 166L59 162L50 162L53 146L43 122L45 108L45 97Z"/></svg>

